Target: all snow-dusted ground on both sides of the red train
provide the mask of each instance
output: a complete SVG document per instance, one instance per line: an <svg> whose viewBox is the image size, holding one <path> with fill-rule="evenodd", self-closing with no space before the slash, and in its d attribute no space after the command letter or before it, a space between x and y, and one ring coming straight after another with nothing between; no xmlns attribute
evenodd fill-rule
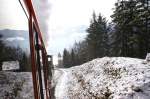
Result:
<svg viewBox="0 0 150 99"><path fill-rule="evenodd" d="M55 68L56 99L150 99L150 62L124 57ZM31 72L0 71L0 99L34 99Z"/></svg>

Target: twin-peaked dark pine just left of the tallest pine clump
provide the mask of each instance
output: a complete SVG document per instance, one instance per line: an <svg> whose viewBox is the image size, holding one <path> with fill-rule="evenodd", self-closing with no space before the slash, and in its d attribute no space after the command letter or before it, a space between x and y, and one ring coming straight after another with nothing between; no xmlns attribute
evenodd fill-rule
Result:
<svg viewBox="0 0 150 99"><path fill-rule="evenodd" d="M96 14L93 13L93 19L87 32L89 33L87 35L87 42L89 45L90 59L107 55L108 34L106 19L101 14L96 17Z"/></svg>

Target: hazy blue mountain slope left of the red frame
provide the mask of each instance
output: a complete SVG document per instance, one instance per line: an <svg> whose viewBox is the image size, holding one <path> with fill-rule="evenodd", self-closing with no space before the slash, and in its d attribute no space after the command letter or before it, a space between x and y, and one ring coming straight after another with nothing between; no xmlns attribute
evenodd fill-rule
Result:
<svg viewBox="0 0 150 99"><path fill-rule="evenodd" d="M29 33L25 30L0 30L2 40L7 46L20 47L24 51L29 50Z"/></svg>

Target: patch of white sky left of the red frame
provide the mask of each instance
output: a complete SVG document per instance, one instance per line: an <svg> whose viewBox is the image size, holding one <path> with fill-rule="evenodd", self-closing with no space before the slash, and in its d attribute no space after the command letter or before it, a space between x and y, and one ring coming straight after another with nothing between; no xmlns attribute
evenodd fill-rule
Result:
<svg viewBox="0 0 150 99"><path fill-rule="evenodd" d="M18 0L0 0L0 29L28 30L28 21Z"/></svg>

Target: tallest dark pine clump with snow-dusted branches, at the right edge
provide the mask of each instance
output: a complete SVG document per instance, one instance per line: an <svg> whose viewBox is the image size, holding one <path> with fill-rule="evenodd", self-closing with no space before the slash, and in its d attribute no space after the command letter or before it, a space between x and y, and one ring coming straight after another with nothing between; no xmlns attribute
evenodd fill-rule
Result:
<svg viewBox="0 0 150 99"><path fill-rule="evenodd" d="M144 58L149 51L149 0L118 0L112 15L120 56Z"/></svg>

